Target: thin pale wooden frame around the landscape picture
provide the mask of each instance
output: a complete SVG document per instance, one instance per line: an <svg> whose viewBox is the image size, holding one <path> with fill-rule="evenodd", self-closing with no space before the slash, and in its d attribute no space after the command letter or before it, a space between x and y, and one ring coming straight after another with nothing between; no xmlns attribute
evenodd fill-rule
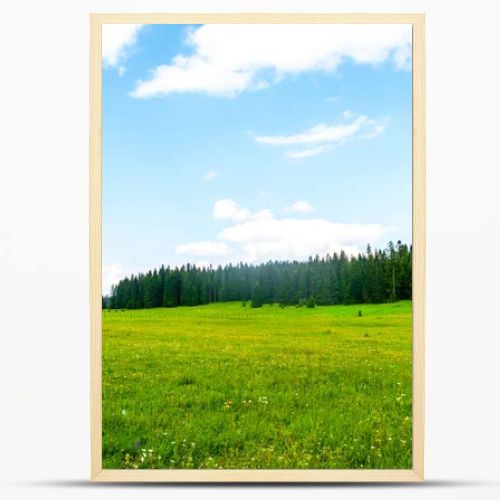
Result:
<svg viewBox="0 0 500 500"><path fill-rule="evenodd" d="M413 26L413 468L408 470L103 470L102 469L102 56L101 26L141 24L412 24ZM425 320L425 15L424 14L91 14L90 15L90 373L91 478L163 482L389 482L424 478Z"/></svg>

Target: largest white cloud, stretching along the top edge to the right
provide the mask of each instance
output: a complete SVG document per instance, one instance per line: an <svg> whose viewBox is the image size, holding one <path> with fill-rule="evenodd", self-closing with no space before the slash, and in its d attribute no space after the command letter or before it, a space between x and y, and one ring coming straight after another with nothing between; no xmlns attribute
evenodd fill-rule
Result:
<svg viewBox="0 0 500 500"><path fill-rule="evenodd" d="M411 61L411 25L402 24L207 24L187 32L191 55L157 66L131 95L174 92L232 97L266 88L304 71L333 73L346 59L397 69Z"/></svg>

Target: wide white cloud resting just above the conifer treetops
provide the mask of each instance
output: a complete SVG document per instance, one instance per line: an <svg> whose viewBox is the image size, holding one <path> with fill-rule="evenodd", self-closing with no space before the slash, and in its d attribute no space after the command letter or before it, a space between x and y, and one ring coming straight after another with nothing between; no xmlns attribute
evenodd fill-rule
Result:
<svg viewBox="0 0 500 500"><path fill-rule="evenodd" d="M237 245L241 260L304 260L342 250L356 254L382 236L379 224L340 224L325 219L249 221L224 229L219 239Z"/></svg>

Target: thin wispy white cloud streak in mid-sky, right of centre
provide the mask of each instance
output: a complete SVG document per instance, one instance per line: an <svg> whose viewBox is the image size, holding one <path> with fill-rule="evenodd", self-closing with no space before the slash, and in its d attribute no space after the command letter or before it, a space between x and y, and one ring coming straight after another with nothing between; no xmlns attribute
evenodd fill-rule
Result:
<svg viewBox="0 0 500 500"><path fill-rule="evenodd" d="M317 156L333 146L344 144L347 140L359 137L371 139L381 134L387 125L387 118L375 120L365 115L354 117L350 111L344 111L340 123L319 123L298 134L257 135L255 140L268 146L303 146L304 149L286 151L285 156L303 159Z"/></svg>

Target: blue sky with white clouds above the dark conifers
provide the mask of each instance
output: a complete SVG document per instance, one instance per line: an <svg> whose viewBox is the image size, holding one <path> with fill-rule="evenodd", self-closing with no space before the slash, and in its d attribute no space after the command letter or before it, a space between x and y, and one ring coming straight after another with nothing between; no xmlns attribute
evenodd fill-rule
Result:
<svg viewBox="0 0 500 500"><path fill-rule="evenodd" d="M411 27L103 30L103 291L411 242Z"/></svg>

